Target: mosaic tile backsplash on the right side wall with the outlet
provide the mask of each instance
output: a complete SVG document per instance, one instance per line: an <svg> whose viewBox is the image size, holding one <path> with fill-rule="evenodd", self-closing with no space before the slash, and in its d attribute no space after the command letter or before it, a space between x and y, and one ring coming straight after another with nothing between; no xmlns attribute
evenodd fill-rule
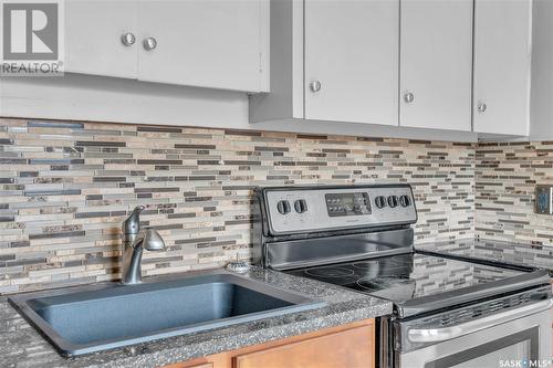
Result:
<svg viewBox="0 0 553 368"><path fill-rule="evenodd" d="M534 213L535 185L553 185L553 141L479 144L476 160L476 234L553 244L553 218Z"/></svg>

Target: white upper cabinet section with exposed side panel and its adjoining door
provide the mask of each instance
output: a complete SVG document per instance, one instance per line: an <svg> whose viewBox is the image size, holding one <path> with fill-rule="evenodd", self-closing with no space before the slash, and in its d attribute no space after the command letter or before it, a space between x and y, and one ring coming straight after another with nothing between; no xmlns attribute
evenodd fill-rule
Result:
<svg viewBox="0 0 553 368"><path fill-rule="evenodd" d="M397 126L399 0L271 1L271 93L250 120Z"/></svg>

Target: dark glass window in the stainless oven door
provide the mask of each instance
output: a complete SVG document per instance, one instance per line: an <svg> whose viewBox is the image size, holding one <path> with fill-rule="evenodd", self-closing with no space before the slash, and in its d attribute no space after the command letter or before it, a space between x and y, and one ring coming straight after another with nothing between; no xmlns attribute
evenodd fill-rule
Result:
<svg viewBox="0 0 553 368"><path fill-rule="evenodd" d="M518 361L536 361L539 359L539 339L540 329L536 326L429 361L425 368L510 367L509 364ZM522 365L522 367L525 366Z"/></svg>

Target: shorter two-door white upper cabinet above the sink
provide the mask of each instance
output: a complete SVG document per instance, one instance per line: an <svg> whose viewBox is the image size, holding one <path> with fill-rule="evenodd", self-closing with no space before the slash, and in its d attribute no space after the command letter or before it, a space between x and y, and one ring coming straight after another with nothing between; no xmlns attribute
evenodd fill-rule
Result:
<svg viewBox="0 0 553 368"><path fill-rule="evenodd" d="M268 0L66 0L70 73L269 91Z"/></svg>

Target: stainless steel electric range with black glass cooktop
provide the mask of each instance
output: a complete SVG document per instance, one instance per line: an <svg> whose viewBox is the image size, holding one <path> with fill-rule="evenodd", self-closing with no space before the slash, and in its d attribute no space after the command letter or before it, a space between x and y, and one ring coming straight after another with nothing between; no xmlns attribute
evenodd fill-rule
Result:
<svg viewBox="0 0 553 368"><path fill-rule="evenodd" d="M499 367L551 358L546 271L417 253L408 185L259 188L264 267L390 301L379 367Z"/></svg>

